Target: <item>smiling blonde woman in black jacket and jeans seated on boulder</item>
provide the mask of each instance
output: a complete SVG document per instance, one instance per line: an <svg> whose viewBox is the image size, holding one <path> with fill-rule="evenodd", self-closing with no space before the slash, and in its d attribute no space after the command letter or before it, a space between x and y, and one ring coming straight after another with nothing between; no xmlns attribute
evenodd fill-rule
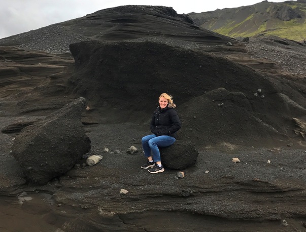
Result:
<svg viewBox="0 0 306 232"><path fill-rule="evenodd" d="M150 124L153 135L147 135L142 138L145 157L148 161L141 168L148 169L150 173L164 171L161 165L158 147L174 144L176 141L176 132L181 128L181 121L177 111L174 109L176 104L173 103L172 96L162 93L158 101L159 106L154 111Z"/></svg>

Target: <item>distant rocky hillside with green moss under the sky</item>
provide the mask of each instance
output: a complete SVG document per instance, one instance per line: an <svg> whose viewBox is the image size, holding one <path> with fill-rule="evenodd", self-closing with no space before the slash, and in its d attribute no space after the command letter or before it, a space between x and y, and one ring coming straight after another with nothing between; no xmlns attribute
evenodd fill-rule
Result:
<svg viewBox="0 0 306 232"><path fill-rule="evenodd" d="M262 1L252 6L190 13L200 27L234 38L277 35L303 42L306 40L306 1L273 3Z"/></svg>

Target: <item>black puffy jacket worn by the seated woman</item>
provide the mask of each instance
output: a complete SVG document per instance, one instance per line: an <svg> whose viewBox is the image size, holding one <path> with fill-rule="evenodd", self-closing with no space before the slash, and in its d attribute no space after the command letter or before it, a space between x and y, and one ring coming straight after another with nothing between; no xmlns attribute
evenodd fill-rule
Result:
<svg viewBox="0 0 306 232"><path fill-rule="evenodd" d="M181 121L177 111L168 106L163 109L158 106L153 113L150 128L152 133L157 136L169 135L176 138L176 132L181 129Z"/></svg>

